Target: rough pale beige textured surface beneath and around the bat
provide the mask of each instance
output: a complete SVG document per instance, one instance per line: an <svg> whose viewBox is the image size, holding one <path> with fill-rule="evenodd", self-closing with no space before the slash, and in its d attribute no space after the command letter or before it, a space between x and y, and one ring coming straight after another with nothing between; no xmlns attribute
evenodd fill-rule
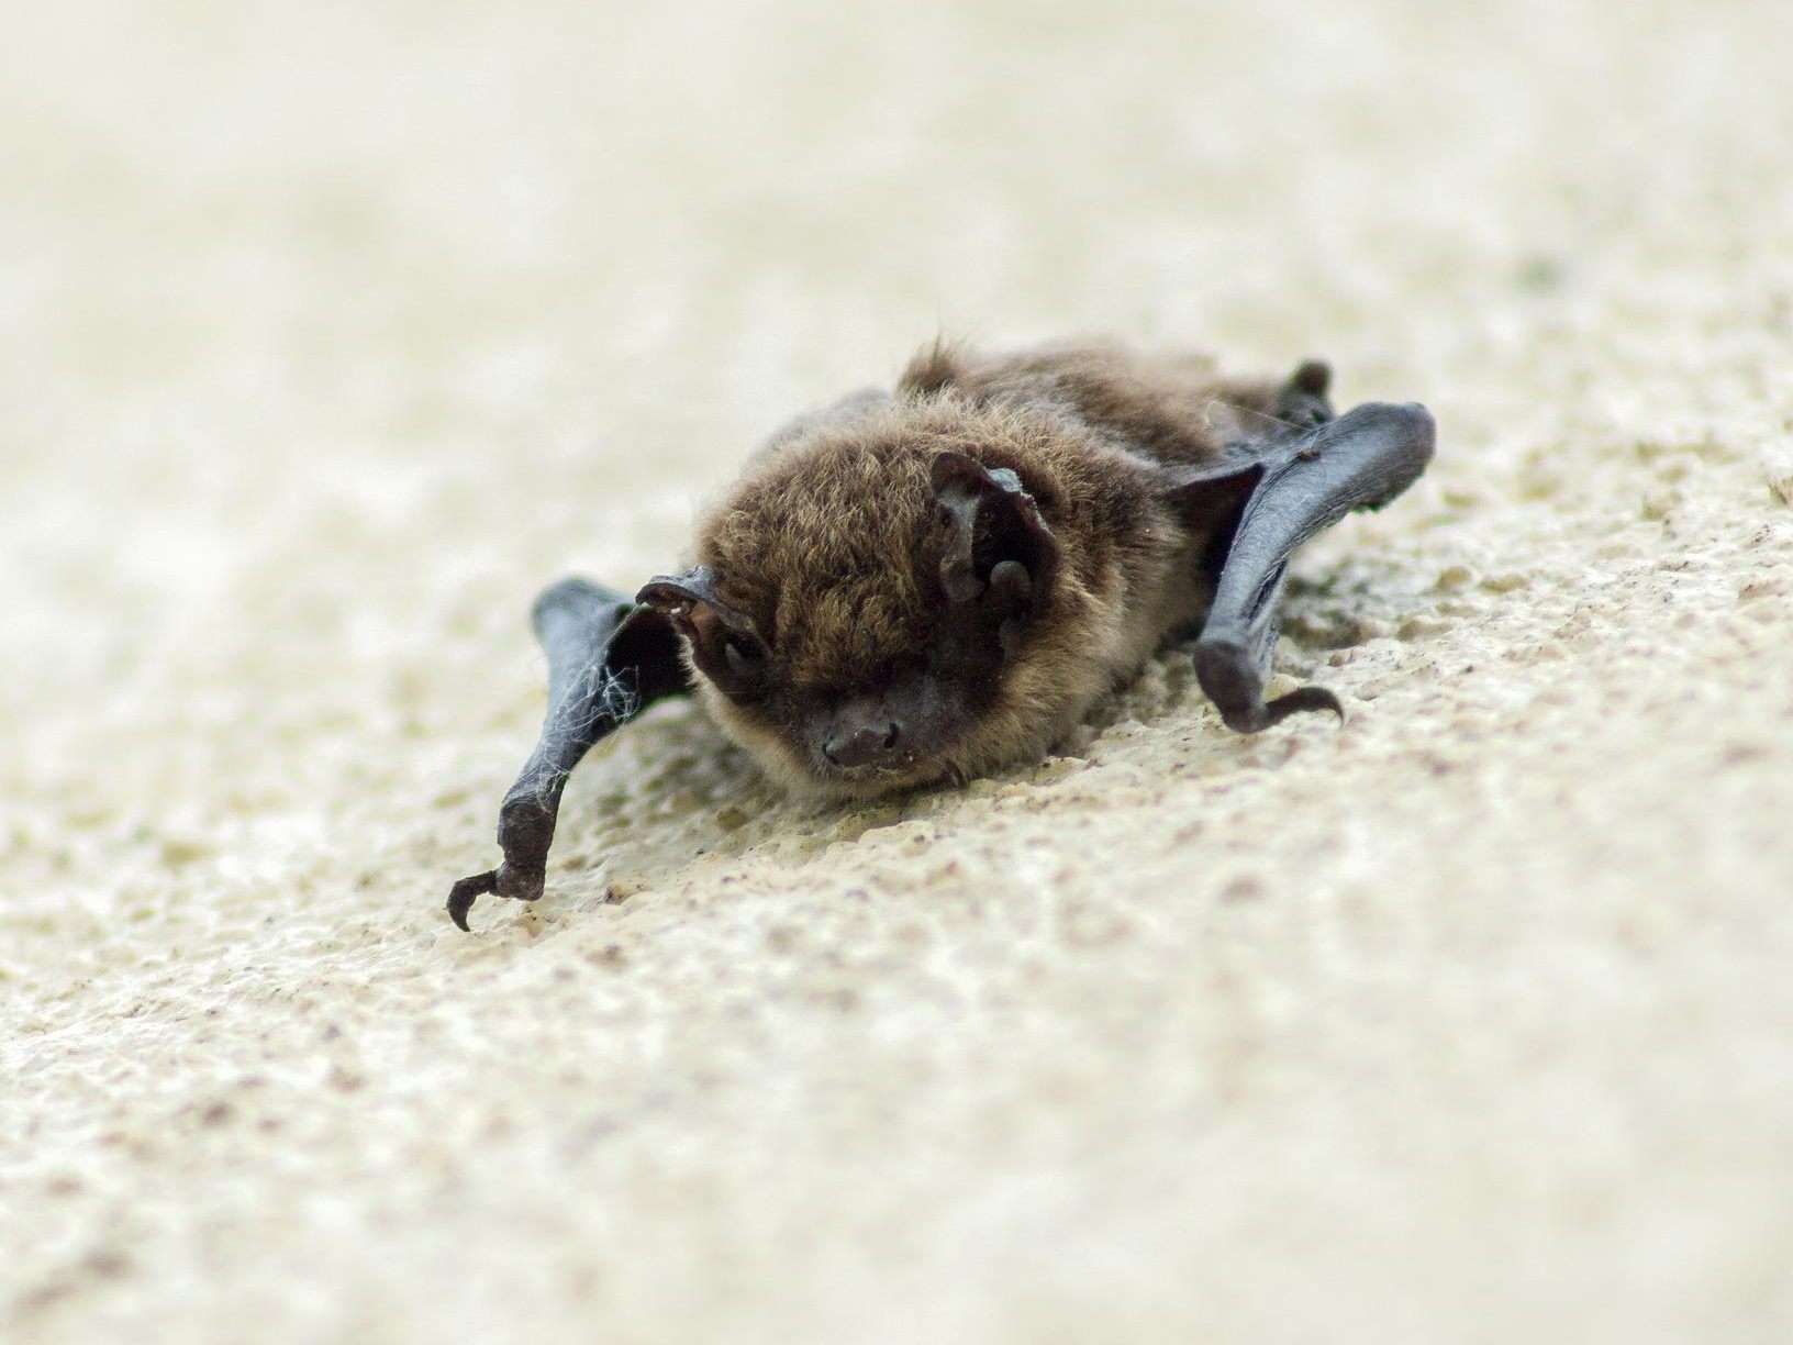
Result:
<svg viewBox="0 0 1793 1345"><path fill-rule="evenodd" d="M1793 22L1472 9L13 7L0 1336L1788 1340ZM1350 726L669 707L450 929L534 586L940 325L1429 402Z"/></svg>

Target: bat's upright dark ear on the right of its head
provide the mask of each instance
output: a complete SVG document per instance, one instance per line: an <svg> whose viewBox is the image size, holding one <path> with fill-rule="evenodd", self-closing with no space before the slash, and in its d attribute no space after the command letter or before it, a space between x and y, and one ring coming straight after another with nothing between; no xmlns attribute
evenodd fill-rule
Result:
<svg viewBox="0 0 1793 1345"><path fill-rule="evenodd" d="M997 620L1038 612L1058 576L1058 538L1020 477L970 454L945 452L932 464L934 499L947 522L940 586L954 606L993 604Z"/></svg>

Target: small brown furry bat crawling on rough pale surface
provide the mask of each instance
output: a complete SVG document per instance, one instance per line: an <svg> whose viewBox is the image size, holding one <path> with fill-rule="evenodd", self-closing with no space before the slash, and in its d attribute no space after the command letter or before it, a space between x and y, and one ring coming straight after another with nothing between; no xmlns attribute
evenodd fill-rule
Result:
<svg viewBox="0 0 1793 1345"><path fill-rule="evenodd" d="M645 705L696 690L773 778L868 798L1038 760L1167 637L1230 728L1264 701L1289 556L1400 495L1433 456L1416 404L1334 418L1330 369L1221 377L1201 355L923 350L895 391L807 414L635 599L563 579L534 604L541 739L498 811L504 863L454 884L534 900L567 777Z"/></svg>

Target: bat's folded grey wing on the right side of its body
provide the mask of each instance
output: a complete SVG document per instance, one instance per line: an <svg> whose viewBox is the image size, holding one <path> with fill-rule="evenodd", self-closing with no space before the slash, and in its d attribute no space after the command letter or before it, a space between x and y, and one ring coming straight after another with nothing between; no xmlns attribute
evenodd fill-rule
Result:
<svg viewBox="0 0 1793 1345"><path fill-rule="evenodd" d="M1425 407L1370 402L1338 420L1232 445L1212 463L1164 468L1162 493L1216 533L1196 678L1228 728L1255 733L1298 710L1343 717L1323 687L1264 701L1289 558L1352 509L1379 509L1418 481L1434 439Z"/></svg>

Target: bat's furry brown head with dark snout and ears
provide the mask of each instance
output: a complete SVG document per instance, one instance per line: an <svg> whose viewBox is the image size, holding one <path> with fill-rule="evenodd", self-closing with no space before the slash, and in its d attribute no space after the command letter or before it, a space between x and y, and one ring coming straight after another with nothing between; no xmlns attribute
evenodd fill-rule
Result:
<svg viewBox="0 0 1793 1345"><path fill-rule="evenodd" d="M1094 599L1049 524L1058 484L1013 425L977 429L936 409L782 448L710 515L701 563L642 588L775 778L963 780L1042 755L1087 708Z"/></svg>

